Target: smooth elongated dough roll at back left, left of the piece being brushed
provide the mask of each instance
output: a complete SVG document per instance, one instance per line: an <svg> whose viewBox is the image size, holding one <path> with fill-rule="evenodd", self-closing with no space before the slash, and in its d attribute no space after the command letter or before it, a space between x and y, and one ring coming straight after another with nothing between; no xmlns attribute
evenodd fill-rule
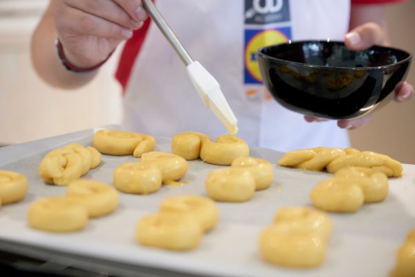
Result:
<svg viewBox="0 0 415 277"><path fill-rule="evenodd" d="M133 154L134 157L140 158L143 153L154 150L156 140L147 134L102 129L93 135L92 143L102 154Z"/></svg>

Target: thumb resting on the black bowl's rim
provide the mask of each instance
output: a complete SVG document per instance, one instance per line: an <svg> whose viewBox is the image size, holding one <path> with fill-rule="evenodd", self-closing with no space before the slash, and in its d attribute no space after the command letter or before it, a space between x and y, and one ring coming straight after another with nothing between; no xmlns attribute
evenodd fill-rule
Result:
<svg viewBox="0 0 415 277"><path fill-rule="evenodd" d="M351 30L344 38L344 44L351 50L365 50L374 44L385 45L386 34L378 24L369 22Z"/></svg>

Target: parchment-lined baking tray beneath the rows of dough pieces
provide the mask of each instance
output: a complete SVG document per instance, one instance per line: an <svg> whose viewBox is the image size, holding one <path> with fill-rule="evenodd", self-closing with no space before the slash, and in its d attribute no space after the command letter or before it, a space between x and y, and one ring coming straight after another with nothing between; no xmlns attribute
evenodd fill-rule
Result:
<svg viewBox="0 0 415 277"><path fill-rule="evenodd" d="M44 155L68 143L91 145L95 129L0 148L0 169L15 170L29 180L24 201L0 208L0 249L47 258L59 264L116 276L388 276L396 251L407 232L415 228L415 166L403 165L402 178L389 179L389 195L380 204L367 204L353 214L331 214L333 238L324 265L316 269L284 269L261 260L259 233L282 206L311 206L313 186L331 177L325 172L282 168L281 152L251 148L253 157L275 166L273 184L255 193L249 202L218 203L220 220L194 251L173 252L142 247L134 240L140 217L158 210L169 195L203 195L211 170L221 168L200 160L189 161L184 186L163 186L152 195L120 193L120 206L106 217L89 220L77 233L55 234L30 229L26 213L36 199L64 195L65 187L44 184L37 168ZM156 150L170 152L168 138L156 138ZM119 163L129 157L102 156L101 165L84 178L112 183Z"/></svg>

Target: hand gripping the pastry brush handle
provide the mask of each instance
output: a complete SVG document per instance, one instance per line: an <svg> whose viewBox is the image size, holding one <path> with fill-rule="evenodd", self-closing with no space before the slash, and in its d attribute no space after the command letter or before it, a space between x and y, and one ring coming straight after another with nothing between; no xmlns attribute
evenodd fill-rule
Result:
<svg viewBox="0 0 415 277"><path fill-rule="evenodd" d="M64 53L71 63L83 68L105 60L147 19L141 0L53 1Z"/></svg>

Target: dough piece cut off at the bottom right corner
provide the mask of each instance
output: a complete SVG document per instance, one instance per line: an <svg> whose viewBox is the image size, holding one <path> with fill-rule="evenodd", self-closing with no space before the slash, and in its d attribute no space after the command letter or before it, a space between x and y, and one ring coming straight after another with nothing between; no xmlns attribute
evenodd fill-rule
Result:
<svg viewBox="0 0 415 277"><path fill-rule="evenodd" d="M415 229L407 235L405 243L400 247L396 257L396 266L391 277L415 276Z"/></svg>

